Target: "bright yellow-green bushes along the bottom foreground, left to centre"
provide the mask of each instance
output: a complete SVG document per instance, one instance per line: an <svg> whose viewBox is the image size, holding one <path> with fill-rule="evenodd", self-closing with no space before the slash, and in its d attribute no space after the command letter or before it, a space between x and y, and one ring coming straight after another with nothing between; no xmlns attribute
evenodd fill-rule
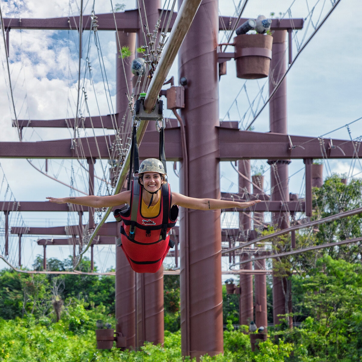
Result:
<svg viewBox="0 0 362 362"><path fill-rule="evenodd" d="M190 361L181 356L181 334L165 332L164 346L146 342L139 351L115 348L98 350L94 330L82 332L69 328L72 317L79 312L79 305L69 309L58 323L49 323L34 317L1 320L0 361L9 362L182 362ZM83 313L84 312L84 313ZM88 321L96 319L94 311L83 311ZM202 361L214 362L283 362L289 355L291 344L278 344L270 340L259 344L260 352L251 352L248 334L241 331L226 331L225 352L214 357L203 356ZM193 359L195 362L195 359Z"/></svg>

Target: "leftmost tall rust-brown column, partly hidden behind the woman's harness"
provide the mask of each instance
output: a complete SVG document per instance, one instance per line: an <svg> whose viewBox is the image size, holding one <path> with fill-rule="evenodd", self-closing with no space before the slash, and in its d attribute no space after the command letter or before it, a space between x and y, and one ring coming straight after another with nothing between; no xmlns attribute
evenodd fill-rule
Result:
<svg viewBox="0 0 362 362"><path fill-rule="evenodd" d="M129 46L130 49L134 49L136 45L135 33L123 33L118 32L119 42L121 46ZM128 108L128 99L126 97L127 82L131 83L132 72L130 66L125 63L125 69L123 69L122 59L118 57L119 46L117 42L117 125L122 122L122 117ZM134 56L134 55L132 55ZM131 57L132 57L131 56ZM132 58L130 58L132 62ZM132 90L130 90L131 92ZM117 228L116 235L121 237L119 226ZM115 331L122 333L123 337L126 337L126 348L136 348L136 278L135 272L132 270L125 254L120 247L116 247L116 269L115 269L115 319L116 327Z"/></svg>

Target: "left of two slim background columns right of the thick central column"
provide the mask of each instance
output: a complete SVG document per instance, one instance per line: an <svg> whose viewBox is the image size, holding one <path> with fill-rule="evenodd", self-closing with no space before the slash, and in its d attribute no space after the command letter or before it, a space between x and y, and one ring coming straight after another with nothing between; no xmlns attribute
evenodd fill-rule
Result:
<svg viewBox="0 0 362 362"><path fill-rule="evenodd" d="M245 193L246 197L251 194L251 166L249 160L239 160L239 193ZM243 174L248 179L240 176ZM239 212L239 225L241 232L244 233L242 241L248 241L248 236L251 228L251 220L249 215ZM241 259L249 259L249 255L244 253L240 256ZM243 264L244 269L252 269L253 263L248 262ZM254 320L254 302L253 302L253 275L240 274L240 299L239 299L239 324L248 325L251 320Z"/></svg>

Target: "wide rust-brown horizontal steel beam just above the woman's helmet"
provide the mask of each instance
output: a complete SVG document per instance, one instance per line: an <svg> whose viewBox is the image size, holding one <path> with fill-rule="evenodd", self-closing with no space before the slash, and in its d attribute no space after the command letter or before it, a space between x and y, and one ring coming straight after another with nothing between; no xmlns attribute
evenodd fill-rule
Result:
<svg viewBox="0 0 362 362"><path fill-rule="evenodd" d="M273 132L250 132L216 127L219 139L220 161L253 160L282 160L282 159L352 159L362 157L362 147L359 141L344 139L319 139L317 137L295 136ZM139 149L140 158L158 157L158 132L149 130L143 133L142 147ZM114 136L110 135L110 142ZM169 161L182 159L180 143L180 128L165 129L166 154ZM31 158L31 159L77 159L98 158L97 144L102 158L109 158L109 146L104 143L104 136L80 138L79 143L88 143L89 147L80 154L71 150L71 140L54 140L39 142L1 142L0 158ZM89 151L90 150L90 151ZM156 151L155 151L156 150ZM321 150L324 150L323 153ZM356 150L358 150L356 152Z"/></svg>

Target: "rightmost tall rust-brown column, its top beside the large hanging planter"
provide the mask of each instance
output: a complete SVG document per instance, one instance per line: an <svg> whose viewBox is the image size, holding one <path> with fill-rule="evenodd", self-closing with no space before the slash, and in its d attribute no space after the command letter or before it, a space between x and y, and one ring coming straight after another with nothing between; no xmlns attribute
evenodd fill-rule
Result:
<svg viewBox="0 0 362 362"><path fill-rule="evenodd" d="M273 34L272 59L270 62L269 93L286 72L286 30L276 30ZM270 131L287 134L287 84L284 79L269 102ZM289 201L288 165L290 160L269 161L271 165L271 200ZM272 214L272 223L279 229L289 227L289 214ZM277 246L277 245L276 245ZM273 319L279 324L280 317L289 313L290 288L285 278L273 274ZM291 318L290 318L291 319ZM292 322L292 321L291 321Z"/></svg>

